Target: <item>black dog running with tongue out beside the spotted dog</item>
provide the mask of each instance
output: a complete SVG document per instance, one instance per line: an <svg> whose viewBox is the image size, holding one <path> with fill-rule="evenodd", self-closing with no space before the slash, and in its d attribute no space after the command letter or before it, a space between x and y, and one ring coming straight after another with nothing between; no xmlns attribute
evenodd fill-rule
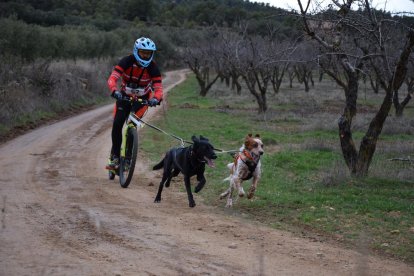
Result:
<svg viewBox="0 0 414 276"><path fill-rule="evenodd" d="M191 137L194 144L186 148L173 148L169 150L163 160L153 167L153 170L159 170L164 167L160 187L154 202L161 202L161 193L164 187L169 187L171 179L180 172L184 175L185 188L187 190L188 202L190 207L194 207L195 201L191 193L190 178L197 175L198 184L194 192L198 193L206 184L204 177L205 164L214 167L212 159L216 159L214 147L209 143L207 138L200 135Z"/></svg>

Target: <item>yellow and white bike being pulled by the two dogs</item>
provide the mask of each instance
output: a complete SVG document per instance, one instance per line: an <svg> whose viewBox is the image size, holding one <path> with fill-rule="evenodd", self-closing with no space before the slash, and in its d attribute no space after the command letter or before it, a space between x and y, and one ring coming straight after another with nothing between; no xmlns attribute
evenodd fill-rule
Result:
<svg viewBox="0 0 414 276"><path fill-rule="evenodd" d="M122 100L129 102L139 102L141 105L148 105L147 100L137 97L125 96ZM135 111L131 109L126 120L125 127L122 130L121 155L118 169L109 170L109 179L113 180L115 175L119 176L119 184L122 188L127 188L131 183L135 170L135 164L138 155L138 128L142 127L140 118L135 115Z"/></svg>

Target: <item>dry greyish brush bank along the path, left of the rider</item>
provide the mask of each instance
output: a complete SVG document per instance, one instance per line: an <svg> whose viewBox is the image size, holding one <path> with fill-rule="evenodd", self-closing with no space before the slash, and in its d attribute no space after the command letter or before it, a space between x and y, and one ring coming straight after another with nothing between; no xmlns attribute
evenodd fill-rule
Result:
<svg viewBox="0 0 414 276"><path fill-rule="evenodd" d="M18 65L19 81L2 78L0 136L28 122L109 99L106 80L112 65L107 60L38 60ZM0 72L10 67L1 63Z"/></svg>

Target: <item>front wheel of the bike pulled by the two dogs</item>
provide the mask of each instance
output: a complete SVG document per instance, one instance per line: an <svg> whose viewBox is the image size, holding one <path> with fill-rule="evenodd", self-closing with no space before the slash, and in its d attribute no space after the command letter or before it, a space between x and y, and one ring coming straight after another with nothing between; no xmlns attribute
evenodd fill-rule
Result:
<svg viewBox="0 0 414 276"><path fill-rule="evenodd" d="M122 188L127 188L129 183L131 183L138 154L137 130L135 128L129 128L126 137L125 156L121 156L119 163L119 183Z"/></svg>

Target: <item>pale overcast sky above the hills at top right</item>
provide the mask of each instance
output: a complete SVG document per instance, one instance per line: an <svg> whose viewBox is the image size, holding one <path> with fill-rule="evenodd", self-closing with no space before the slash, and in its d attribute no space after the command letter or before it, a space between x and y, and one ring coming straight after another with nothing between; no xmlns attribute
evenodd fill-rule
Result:
<svg viewBox="0 0 414 276"><path fill-rule="evenodd" d="M302 3L306 3L307 0L302 0ZM330 0L318 0L324 4L332 3ZM295 9L298 10L297 0L250 0L250 2L269 3L271 6L282 8L285 10ZM342 0L338 1L342 3ZM389 12L412 12L414 13L414 2L411 0L372 0L372 6L376 9L385 9Z"/></svg>

